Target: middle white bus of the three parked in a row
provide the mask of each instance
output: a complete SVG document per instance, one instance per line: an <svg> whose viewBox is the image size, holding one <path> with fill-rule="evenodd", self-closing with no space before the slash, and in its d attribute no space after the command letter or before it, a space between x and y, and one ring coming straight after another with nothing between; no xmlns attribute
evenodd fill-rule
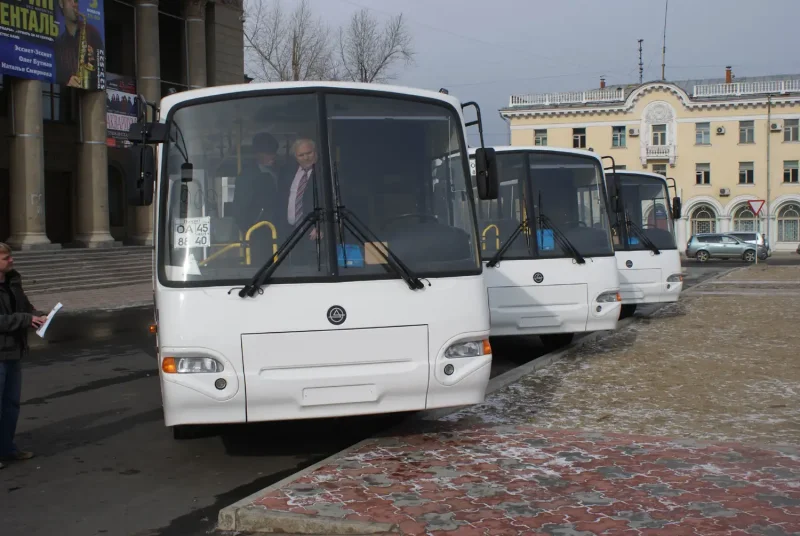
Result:
<svg viewBox="0 0 800 536"><path fill-rule="evenodd" d="M601 159L494 149L499 194L478 203L492 335L539 335L552 348L575 333L616 329L619 275Z"/></svg>

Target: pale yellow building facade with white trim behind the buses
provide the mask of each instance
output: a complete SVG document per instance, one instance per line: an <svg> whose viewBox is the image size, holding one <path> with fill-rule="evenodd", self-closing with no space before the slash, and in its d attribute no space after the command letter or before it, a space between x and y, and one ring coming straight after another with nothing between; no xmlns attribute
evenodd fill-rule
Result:
<svg viewBox="0 0 800 536"><path fill-rule="evenodd" d="M756 230L773 251L800 243L800 75L601 81L591 91L514 95L500 114L511 145L590 149L617 168L674 178L680 250L702 232ZM748 201L757 199L765 203L756 217Z"/></svg>

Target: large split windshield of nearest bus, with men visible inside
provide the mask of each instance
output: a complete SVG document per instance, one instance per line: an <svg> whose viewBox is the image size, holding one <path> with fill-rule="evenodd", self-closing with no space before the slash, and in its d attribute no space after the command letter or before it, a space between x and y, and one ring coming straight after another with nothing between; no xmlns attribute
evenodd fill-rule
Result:
<svg viewBox="0 0 800 536"><path fill-rule="evenodd" d="M270 284L399 278L387 250L415 276L480 274L463 126L446 102L232 94L180 104L167 123L164 284L244 283L293 233ZM340 224L345 213L366 236ZM304 227L314 214L320 221Z"/></svg>

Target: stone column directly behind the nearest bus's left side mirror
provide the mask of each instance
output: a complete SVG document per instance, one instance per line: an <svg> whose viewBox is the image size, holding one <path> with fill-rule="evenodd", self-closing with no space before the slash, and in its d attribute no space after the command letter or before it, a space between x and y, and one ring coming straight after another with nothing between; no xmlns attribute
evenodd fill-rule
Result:
<svg viewBox="0 0 800 536"><path fill-rule="evenodd" d="M148 102L161 100L161 52L158 43L158 0L136 0L136 90ZM151 110L147 118L152 121ZM153 244L153 205L134 207L136 244Z"/></svg>

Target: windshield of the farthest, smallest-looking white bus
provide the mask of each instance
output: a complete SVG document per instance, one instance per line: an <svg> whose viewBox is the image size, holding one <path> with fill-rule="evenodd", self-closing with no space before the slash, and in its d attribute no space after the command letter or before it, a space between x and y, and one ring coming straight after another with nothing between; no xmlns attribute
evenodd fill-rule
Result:
<svg viewBox="0 0 800 536"><path fill-rule="evenodd" d="M677 249L666 181L619 171L616 176L609 172L606 178L609 192L620 199L619 212L611 214L614 247Z"/></svg>

